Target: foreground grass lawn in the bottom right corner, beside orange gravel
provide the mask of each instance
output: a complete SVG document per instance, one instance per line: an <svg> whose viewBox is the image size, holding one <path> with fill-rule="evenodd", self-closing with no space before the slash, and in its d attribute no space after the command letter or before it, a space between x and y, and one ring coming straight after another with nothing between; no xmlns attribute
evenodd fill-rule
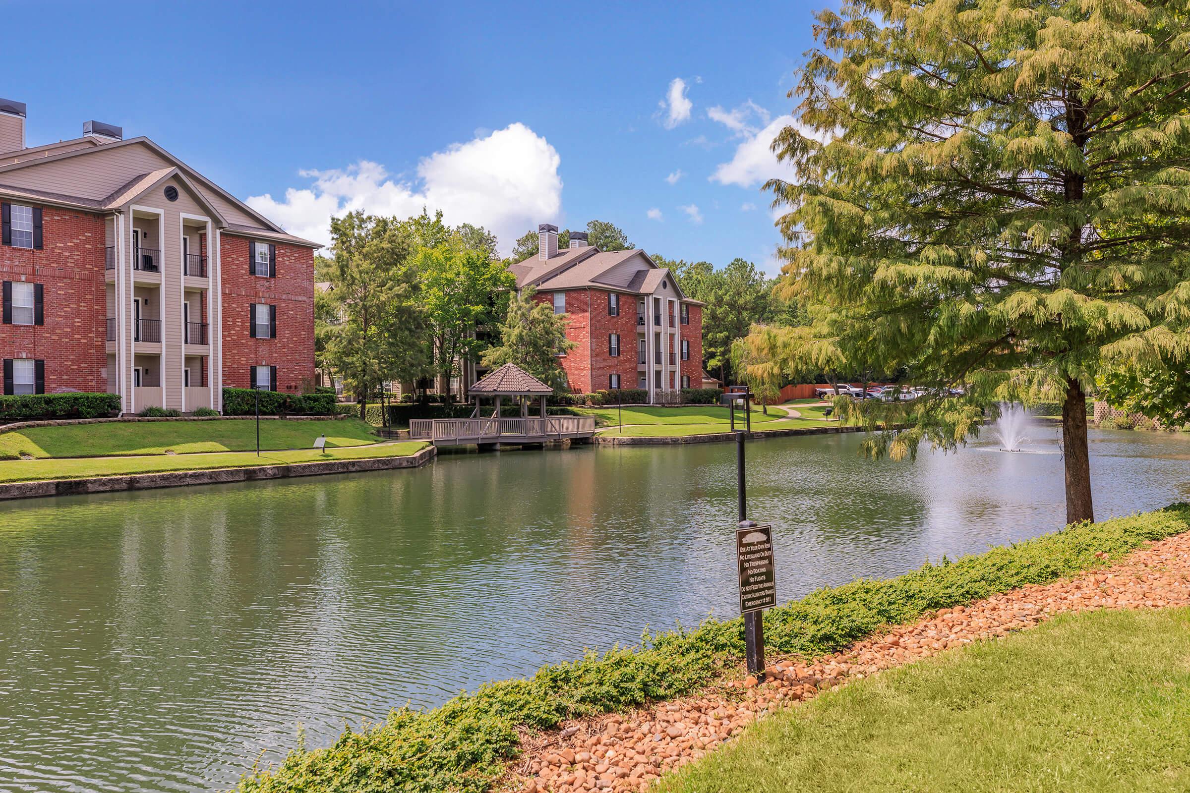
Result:
<svg viewBox="0 0 1190 793"><path fill-rule="evenodd" d="M651 789L1190 789L1190 610L1065 616L826 693Z"/></svg>

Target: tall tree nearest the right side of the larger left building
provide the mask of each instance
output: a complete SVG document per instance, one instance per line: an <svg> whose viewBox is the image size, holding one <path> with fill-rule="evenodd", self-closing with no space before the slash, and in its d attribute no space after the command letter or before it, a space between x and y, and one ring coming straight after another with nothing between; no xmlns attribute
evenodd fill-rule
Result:
<svg viewBox="0 0 1190 793"><path fill-rule="evenodd" d="M331 237L334 266L321 306L322 360L356 394L363 418L380 383L425 371L421 287L401 224L352 212L331 219Z"/></svg>

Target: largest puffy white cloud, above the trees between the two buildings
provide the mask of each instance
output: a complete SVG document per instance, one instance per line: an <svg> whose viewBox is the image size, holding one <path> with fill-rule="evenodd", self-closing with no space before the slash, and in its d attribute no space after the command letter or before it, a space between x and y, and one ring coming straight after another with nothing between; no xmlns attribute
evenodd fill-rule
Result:
<svg viewBox="0 0 1190 793"><path fill-rule="evenodd" d="M331 215L362 209L407 218L422 207L441 209L452 226L470 222L496 234L507 254L526 228L560 214L560 162L545 138L518 122L424 157L414 181L393 178L380 163L362 159L343 169L299 171L313 185L289 188L283 200L251 196L248 204L318 243L331 241Z"/></svg>

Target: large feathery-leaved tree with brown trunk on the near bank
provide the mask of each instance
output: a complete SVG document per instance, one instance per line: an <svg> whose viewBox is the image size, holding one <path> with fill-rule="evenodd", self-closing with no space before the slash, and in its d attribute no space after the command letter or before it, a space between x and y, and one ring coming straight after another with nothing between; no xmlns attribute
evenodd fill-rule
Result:
<svg viewBox="0 0 1190 793"><path fill-rule="evenodd" d="M1066 520L1094 520L1085 391L1114 361L1190 346L1186 13L844 0L818 14L800 124L774 141L798 181L766 187L785 208L784 294L808 301L814 341L931 389L857 405L869 427L912 422L871 453L953 448L998 401L1060 402Z"/></svg>

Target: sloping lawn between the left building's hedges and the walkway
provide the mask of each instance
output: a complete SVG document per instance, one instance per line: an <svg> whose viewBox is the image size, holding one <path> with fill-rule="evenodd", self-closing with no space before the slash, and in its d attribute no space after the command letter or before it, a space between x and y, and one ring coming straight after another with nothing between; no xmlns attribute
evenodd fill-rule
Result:
<svg viewBox="0 0 1190 793"><path fill-rule="evenodd" d="M359 446L375 443L371 427L358 418L324 421L261 421L262 449L309 448L326 434L326 445ZM33 427L0 434L0 459L115 457L125 454L195 454L201 452L243 452L256 449L256 422L146 421Z"/></svg>

